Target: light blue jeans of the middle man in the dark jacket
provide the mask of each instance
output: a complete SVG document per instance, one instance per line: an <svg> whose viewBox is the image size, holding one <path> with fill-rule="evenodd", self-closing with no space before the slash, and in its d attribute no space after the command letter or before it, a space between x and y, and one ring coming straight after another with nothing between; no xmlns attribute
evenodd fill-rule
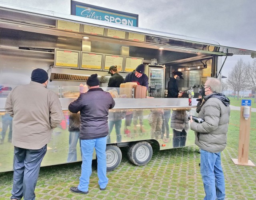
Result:
<svg viewBox="0 0 256 200"><path fill-rule="evenodd" d="M92 154L93 149L96 150L97 155L97 174L98 184L100 188L105 188L108 184L107 178L107 160L106 160L106 141L107 137L101 137L91 140L81 140L82 148L82 172L79 178L80 182L78 190L82 192L88 191L90 176L92 174Z"/></svg>

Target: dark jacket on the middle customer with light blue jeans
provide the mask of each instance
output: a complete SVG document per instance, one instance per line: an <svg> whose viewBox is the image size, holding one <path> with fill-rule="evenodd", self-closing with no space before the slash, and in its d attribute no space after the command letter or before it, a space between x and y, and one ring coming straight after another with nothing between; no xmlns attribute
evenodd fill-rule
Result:
<svg viewBox="0 0 256 200"><path fill-rule="evenodd" d="M110 93L101 88L89 89L68 106L72 113L80 111L80 139L89 140L108 135L108 109L115 105Z"/></svg>

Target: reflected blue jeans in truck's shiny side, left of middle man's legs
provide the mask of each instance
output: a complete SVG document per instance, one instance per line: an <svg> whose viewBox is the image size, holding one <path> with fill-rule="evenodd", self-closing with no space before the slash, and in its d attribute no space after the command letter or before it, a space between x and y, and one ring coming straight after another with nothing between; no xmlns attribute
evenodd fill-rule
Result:
<svg viewBox="0 0 256 200"><path fill-rule="evenodd" d="M68 159L67 162L74 162L77 160L76 158L76 144L79 138L79 131L70 131L69 132L69 149L68 149ZM79 139L80 144L80 151L82 156L81 150L81 140Z"/></svg>

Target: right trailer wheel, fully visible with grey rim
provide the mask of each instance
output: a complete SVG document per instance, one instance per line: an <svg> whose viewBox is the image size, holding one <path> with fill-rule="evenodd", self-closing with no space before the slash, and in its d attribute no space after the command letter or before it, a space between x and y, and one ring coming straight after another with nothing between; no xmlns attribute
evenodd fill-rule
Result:
<svg viewBox="0 0 256 200"><path fill-rule="evenodd" d="M152 147L146 141L140 141L132 144L128 149L129 160L137 165L146 165L152 158Z"/></svg>

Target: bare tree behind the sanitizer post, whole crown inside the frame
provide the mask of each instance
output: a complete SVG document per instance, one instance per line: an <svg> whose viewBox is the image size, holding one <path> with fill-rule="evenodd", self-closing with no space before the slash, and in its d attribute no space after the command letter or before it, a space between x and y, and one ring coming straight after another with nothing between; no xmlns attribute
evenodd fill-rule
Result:
<svg viewBox="0 0 256 200"><path fill-rule="evenodd" d="M228 87L237 91L237 100L239 100L239 92L241 90L247 89L247 77L246 77L246 64L243 59L240 58L236 65L233 67L232 71L228 73Z"/></svg>

